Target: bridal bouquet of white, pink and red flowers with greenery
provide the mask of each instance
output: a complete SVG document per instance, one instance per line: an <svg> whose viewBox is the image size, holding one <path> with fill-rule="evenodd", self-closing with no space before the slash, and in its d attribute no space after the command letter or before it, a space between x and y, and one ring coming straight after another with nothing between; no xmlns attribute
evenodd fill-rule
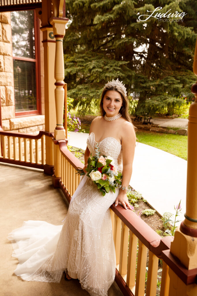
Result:
<svg viewBox="0 0 197 296"><path fill-rule="evenodd" d="M87 176L92 179L93 183L97 184L103 196L110 190L115 193L116 187L122 187L122 173L117 171L113 157L110 155L100 156L98 144L96 144L95 152L95 156L91 154L88 158ZM77 172L80 175L85 174L82 169L78 169Z"/></svg>

